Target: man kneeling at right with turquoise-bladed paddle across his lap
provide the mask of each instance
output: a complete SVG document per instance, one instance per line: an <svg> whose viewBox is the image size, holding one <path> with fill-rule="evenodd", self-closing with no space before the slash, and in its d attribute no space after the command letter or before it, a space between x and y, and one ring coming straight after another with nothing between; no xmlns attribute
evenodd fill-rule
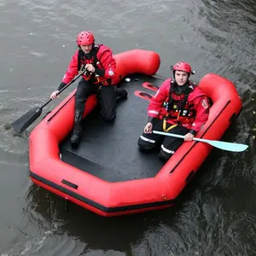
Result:
<svg viewBox="0 0 256 256"><path fill-rule="evenodd" d="M162 143L160 158L163 160L169 160L183 141L154 134L152 130L184 135L184 141L191 141L206 124L210 109L207 96L189 81L192 73L189 64L177 62L172 70L174 79L166 79L160 84L148 105L148 124L138 139L139 147L144 150Z"/></svg>

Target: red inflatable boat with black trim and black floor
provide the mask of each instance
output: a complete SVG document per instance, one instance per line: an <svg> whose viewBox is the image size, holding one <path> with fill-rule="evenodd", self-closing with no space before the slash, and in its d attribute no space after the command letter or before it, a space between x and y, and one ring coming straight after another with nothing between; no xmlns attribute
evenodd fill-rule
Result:
<svg viewBox="0 0 256 256"><path fill-rule="evenodd" d="M128 90L113 124L97 113L96 96L85 105L83 138L78 149L69 143L73 128L74 93L35 127L29 137L32 182L102 216L117 216L171 207L199 169L212 146L183 143L164 164L158 154L138 150L137 139L147 121L148 102L134 95L154 77L160 57L135 49L114 55L115 83ZM132 76L131 76L132 74ZM125 78L131 78L130 83ZM241 111L241 99L229 80L208 73L199 86L212 99L207 124L196 137L219 140Z"/></svg>

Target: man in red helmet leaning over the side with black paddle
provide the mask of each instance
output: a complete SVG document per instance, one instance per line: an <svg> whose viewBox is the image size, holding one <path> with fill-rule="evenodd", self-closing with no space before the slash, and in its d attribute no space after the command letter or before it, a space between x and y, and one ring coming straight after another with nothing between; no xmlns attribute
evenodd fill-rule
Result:
<svg viewBox="0 0 256 256"><path fill-rule="evenodd" d="M84 104L88 96L97 94L102 116L107 121L115 119L116 99L127 98L126 90L117 88L113 84L116 62L113 59L112 50L104 44L95 44L94 35L87 31L79 32L76 43L78 49L67 67L67 72L58 90L50 95L51 99L55 99L59 90L78 75L80 70L86 69L75 94L74 126L71 137L73 145L78 145L80 141Z"/></svg>

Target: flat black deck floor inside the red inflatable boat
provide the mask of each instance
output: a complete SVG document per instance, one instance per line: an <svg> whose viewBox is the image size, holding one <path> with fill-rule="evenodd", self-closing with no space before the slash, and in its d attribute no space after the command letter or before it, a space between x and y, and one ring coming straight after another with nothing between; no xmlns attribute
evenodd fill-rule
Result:
<svg viewBox="0 0 256 256"><path fill-rule="evenodd" d="M154 177L164 162L158 157L159 148L142 152L137 146L147 122L148 101L134 95L144 90L143 82L160 84L160 79L137 75L131 82L122 83L128 99L119 102L116 119L109 123L102 119L96 108L83 121L83 135L78 148L72 148L67 136L60 145L61 160L84 172L108 182L120 182Z"/></svg>

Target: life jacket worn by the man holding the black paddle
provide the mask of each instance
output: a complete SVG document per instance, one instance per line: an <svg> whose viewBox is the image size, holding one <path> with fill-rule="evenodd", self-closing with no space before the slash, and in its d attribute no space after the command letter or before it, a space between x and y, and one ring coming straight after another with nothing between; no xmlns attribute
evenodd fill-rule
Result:
<svg viewBox="0 0 256 256"><path fill-rule="evenodd" d="M93 48L90 50L89 54L84 54L84 51L82 49L79 49L78 54L78 71L84 70L84 67L86 64L92 64L93 67L101 68L103 69L103 65L99 58L101 57L104 50L101 52L101 55L98 56L99 49L102 44L95 44ZM86 71L83 75L85 80L90 80L93 84L109 84L111 83L110 79L106 79L104 77L100 77L96 73L90 73Z"/></svg>

